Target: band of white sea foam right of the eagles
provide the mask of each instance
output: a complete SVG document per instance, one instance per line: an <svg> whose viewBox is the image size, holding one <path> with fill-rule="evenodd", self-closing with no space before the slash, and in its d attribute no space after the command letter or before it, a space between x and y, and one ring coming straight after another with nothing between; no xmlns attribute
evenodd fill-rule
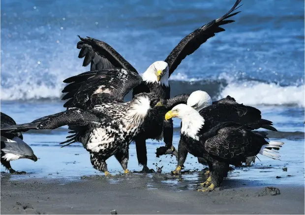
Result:
<svg viewBox="0 0 305 215"><path fill-rule="evenodd" d="M229 83L219 98L230 95L244 105L294 105L304 107L304 85L280 86L274 83Z"/></svg>

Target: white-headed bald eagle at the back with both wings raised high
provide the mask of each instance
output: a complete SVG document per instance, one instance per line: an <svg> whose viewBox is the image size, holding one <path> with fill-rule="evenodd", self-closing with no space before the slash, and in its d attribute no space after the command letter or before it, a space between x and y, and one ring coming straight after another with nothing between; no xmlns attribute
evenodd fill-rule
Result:
<svg viewBox="0 0 305 215"><path fill-rule="evenodd" d="M170 85L168 79L170 75L187 55L195 52L203 43L213 37L215 33L225 30L220 26L234 22L233 20L227 19L239 13L232 12L239 8L238 5L240 2L241 0L236 0L234 6L228 11L228 13L185 36L164 61L156 61L152 63L152 65L150 65L143 73L142 83L133 89L133 97L138 93L146 92L154 93L160 99L169 99ZM123 68L138 73L136 69L122 57L122 55L107 43L90 37L82 38L79 36L79 38L81 41L77 44L77 48L80 49L78 57L85 57L83 66L88 66L91 63L91 71L109 68ZM63 90L63 92L67 93L71 91ZM65 104L64 107L73 108L74 106ZM174 147L172 146L172 120L164 121L161 127L161 132L155 133L155 135L142 132L135 138L138 161L139 164L143 165L142 172L153 171L147 167L146 139L161 139L163 134L163 139L167 148L172 148L174 150Z"/></svg>

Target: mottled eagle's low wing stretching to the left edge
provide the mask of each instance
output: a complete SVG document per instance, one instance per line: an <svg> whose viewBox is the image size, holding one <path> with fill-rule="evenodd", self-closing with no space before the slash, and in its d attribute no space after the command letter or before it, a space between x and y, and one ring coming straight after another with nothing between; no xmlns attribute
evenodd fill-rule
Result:
<svg viewBox="0 0 305 215"><path fill-rule="evenodd" d="M1 134L5 132L26 132L29 130L56 129L65 125L84 126L89 124L100 125L104 121L110 121L110 117L96 110L82 110L71 108L60 113L44 116L30 123L11 125L1 128Z"/></svg>

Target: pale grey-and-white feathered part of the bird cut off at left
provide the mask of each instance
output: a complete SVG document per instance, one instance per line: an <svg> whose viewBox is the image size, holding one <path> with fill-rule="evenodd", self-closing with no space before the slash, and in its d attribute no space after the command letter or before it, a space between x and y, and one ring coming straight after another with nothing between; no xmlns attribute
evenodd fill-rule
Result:
<svg viewBox="0 0 305 215"><path fill-rule="evenodd" d="M1 136L1 141L5 144L5 147L1 151L5 153L3 158L6 161L14 161L22 158L37 161L37 157L34 155L31 147L19 137L16 136L13 139L8 139Z"/></svg>

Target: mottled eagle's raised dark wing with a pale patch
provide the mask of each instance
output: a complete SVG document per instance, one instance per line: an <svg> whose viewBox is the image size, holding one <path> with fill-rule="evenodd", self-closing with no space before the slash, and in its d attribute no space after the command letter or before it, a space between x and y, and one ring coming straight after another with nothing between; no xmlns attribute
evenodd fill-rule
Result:
<svg viewBox="0 0 305 215"><path fill-rule="evenodd" d="M65 108L93 108L95 105L118 101L135 86L142 82L139 74L125 69L103 69L85 72L70 77L63 82L69 83L62 93L62 100L69 99Z"/></svg>

